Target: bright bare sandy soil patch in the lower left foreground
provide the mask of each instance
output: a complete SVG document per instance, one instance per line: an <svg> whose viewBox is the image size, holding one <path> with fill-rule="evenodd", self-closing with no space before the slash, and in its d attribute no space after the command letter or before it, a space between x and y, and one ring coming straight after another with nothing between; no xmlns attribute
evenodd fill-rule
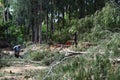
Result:
<svg viewBox="0 0 120 80"><path fill-rule="evenodd" d="M0 73L5 74L4 76L0 77L0 80L34 80L32 76L26 78L26 76L30 75L29 72L35 70L44 70L46 68L47 67L45 66L35 66L32 64L5 67L0 70Z"/></svg>

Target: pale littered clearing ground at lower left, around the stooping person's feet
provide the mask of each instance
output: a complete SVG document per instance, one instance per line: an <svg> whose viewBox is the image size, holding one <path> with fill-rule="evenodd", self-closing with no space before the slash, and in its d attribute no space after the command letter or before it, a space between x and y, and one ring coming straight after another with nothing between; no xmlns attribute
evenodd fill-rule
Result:
<svg viewBox="0 0 120 80"><path fill-rule="evenodd" d="M4 49L3 52L14 56L14 51ZM23 56L24 53L21 52L20 55ZM34 75L36 71L48 68L47 66L39 65L40 61L32 61L31 63L21 58L9 60L11 60L12 65L0 69L0 80L35 80L32 78L32 74Z"/></svg>

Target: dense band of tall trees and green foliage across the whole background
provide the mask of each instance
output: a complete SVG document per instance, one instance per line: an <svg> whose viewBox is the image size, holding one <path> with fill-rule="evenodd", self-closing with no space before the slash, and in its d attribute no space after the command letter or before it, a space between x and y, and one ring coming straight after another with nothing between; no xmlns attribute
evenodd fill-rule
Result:
<svg viewBox="0 0 120 80"><path fill-rule="evenodd" d="M1 0L0 39L64 43L78 31L80 39L94 40L119 32L119 13L119 0Z"/></svg>

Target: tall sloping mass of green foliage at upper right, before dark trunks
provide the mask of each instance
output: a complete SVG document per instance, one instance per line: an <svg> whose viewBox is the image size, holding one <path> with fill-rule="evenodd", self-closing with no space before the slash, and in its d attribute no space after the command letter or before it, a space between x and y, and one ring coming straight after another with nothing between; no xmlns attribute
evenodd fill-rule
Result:
<svg viewBox="0 0 120 80"><path fill-rule="evenodd" d="M73 20L72 23L69 31L79 31L80 40L108 39L108 35L120 31L120 8L116 3L108 2L101 11L80 20Z"/></svg>

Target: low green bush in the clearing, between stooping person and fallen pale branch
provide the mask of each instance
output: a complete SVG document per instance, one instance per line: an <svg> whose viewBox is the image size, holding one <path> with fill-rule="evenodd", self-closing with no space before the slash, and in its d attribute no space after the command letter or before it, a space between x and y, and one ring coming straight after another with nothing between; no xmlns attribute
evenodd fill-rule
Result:
<svg viewBox="0 0 120 80"><path fill-rule="evenodd" d="M62 54L58 52L30 52L27 57L35 61L42 61L44 65L50 65L52 62L59 60L63 57Z"/></svg>

